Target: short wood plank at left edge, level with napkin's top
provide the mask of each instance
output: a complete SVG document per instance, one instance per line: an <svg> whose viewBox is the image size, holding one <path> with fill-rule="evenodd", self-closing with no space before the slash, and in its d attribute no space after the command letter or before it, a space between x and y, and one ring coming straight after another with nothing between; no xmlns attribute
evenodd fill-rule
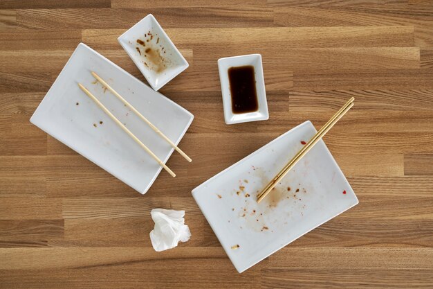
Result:
<svg viewBox="0 0 433 289"><path fill-rule="evenodd" d="M0 198L3 220L62 219L62 200L45 198Z"/></svg>

